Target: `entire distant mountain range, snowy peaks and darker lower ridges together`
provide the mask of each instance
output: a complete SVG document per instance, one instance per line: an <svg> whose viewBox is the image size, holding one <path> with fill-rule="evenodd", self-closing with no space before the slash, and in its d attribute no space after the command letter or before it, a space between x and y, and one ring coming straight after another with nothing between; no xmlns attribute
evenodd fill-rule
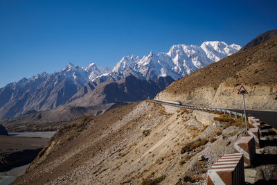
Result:
<svg viewBox="0 0 277 185"><path fill-rule="evenodd" d="M215 41L204 42L201 46L174 45L168 53L155 55L151 51L143 58L134 55L125 56L113 69L98 67L94 63L89 64L88 67L78 67L69 63L58 72L40 73L1 88L0 118L12 118L30 112L55 109L61 105L92 106L96 103L141 100L142 97L153 98L153 92L162 91L170 81L172 82L166 76L177 80L240 49L241 47L236 44L228 45L225 42ZM134 78L127 78L129 76ZM166 80L162 80L161 77ZM112 83L123 78L127 79ZM137 85L148 83L155 87L141 88L139 92L143 92L145 96L134 98L129 92L136 93L136 85L130 85L132 81L137 81L135 79L145 80L145 82L137 82ZM105 84L98 87L102 82ZM127 84L133 89L127 90L125 86ZM98 90L93 91L96 87ZM117 93L113 94L114 91L110 91L109 88L118 89L118 91L114 90ZM96 97L98 97L97 100L92 100Z"/></svg>

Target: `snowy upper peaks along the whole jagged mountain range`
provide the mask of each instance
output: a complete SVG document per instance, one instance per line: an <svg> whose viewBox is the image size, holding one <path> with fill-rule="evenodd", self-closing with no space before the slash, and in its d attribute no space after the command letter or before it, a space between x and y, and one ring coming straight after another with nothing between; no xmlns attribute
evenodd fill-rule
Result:
<svg viewBox="0 0 277 185"><path fill-rule="evenodd" d="M203 42L201 46L177 44L171 46L168 53L155 55L153 51L150 51L150 54L143 56L143 58L136 55L125 56L113 69L98 67L93 62L87 67L78 67L78 65L69 62L66 67L60 70L59 76L78 81L81 84L102 76L105 76L106 79L108 76L113 79L120 79L129 74L148 80L157 80L159 76L171 76L176 80L236 53L240 49L241 46L237 44L228 45L226 42L220 41ZM36 81L51 75L42 73L30 80ZM21 84L24 84L25 81L21 80Z"/></svg>

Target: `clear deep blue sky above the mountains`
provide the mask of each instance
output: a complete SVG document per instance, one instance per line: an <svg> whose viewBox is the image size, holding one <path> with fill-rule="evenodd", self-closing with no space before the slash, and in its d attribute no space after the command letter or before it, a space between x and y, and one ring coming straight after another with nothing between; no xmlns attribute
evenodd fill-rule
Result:
<svg viewBox="0 0 277 185"><path fill-rule="evenodd" d="M0 87L69 62L114 67L125 55L219 40L243 46L277 28L277 1L0 0Z"/></svg>

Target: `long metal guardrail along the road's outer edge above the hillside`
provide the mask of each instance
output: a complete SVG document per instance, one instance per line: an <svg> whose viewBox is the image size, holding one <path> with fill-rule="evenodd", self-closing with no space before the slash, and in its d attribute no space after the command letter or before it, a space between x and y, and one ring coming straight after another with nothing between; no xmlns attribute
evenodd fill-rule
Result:
<svg viewBox="0 0 277 185"><path fill-rule="evenodd" d="M168 102L164 102L162 100L151 100L153 102L156 102L156 103L162 103L162 104L165 104L165 105L171 105L171 106L174 106L174 107L184 107L186 109L196 109L196 110L208 110L208 111L215 111L215 112L224 112L224 114L229 114L229 116L231 117L231 114L235 115L235 118L238 118L238 116L241 116L242 118L242 121L243 121L243 117L244 114L240 113L240 112L233 112L231 110L228 110L228 109L222 109L222 108L211 108L211 107L199 107L199 106L192 106L192 105L179 105L179 104L175 104L175 103L168 103Z"/></svg>

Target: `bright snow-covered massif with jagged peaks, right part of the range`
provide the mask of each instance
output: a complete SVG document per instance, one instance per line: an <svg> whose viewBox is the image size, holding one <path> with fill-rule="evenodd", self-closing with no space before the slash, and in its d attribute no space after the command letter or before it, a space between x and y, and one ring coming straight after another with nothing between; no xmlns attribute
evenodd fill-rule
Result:
<svg viewBox="0 0 277 185"><path fill-rule="evenodd" d="M174 45L168 53L155 55L151 51L148 56L143 56L143 58L134 55L131 57L125 56L110 73L90 80L107 79L115 75L123 78L126 76L126 71L131 71L135 76L147 80L157 80L158 76L171 76L176 80L208 64L217 62L240 49L241 46L237 44L228 45L219 41L204 42L201 46Z"/></svg>

